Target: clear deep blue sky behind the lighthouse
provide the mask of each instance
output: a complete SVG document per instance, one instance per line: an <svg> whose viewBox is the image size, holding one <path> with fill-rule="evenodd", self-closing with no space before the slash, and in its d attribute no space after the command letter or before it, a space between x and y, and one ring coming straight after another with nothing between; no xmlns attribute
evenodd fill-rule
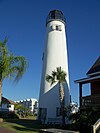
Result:
<svg viewBox="0 0 100 133"><path fill-rule="evenodd" d="M18 84L6 79L3 96L12 100L39 97L46 17L58 9L67 19L69 74L72 100L78 102L74 80L86 72L100 55L100 0L0 0L0 40L28 59L27 72ZM84 94L88 93L84 88Z"/></svg>

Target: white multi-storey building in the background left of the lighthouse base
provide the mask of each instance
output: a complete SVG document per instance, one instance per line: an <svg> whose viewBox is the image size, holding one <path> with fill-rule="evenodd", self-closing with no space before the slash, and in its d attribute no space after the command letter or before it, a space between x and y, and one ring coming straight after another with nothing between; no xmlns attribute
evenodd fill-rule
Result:
<svg viewBox="0 0 100 133"><path fill-rule="evenodd" d="M24 105L24 107L29 108L31 112L37 114L37 108L38 108L38 101L35 98L25 99L16 101L16 103L20 103Z"/></svg>

